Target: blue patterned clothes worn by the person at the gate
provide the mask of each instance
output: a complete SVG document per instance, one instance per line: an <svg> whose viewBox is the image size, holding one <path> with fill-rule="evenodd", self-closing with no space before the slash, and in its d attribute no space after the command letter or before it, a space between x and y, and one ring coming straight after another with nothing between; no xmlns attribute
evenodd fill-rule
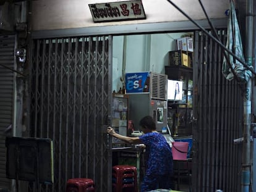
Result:
<svg viewBox="0 0 256 192"><path fill-rule="evenodd" d="M173 154L161 133L145 133L139 137L146 146L146 172L140 192L170 189L173 173Z"/></svg>

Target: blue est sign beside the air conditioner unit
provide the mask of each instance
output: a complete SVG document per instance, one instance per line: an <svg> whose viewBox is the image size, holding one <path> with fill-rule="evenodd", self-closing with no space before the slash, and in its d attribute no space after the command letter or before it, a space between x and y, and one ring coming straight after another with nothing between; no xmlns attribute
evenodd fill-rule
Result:
<svg viewBox="0 0 256 192"><path fill-rule="evenodd" d="M126 73L126 93L148 93L150 72Z"/></svg>

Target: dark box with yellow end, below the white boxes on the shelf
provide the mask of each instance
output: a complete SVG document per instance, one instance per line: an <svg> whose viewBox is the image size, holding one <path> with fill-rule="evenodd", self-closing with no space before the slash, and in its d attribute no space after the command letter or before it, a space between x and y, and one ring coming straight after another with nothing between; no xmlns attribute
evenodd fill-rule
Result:
<svg viewBox="0 0 256 192"><path fill-rule="evenodd" d="M186 67L189 66L189 56L186 52L178 51L169 51L169 65L182 65Z"/></svg>

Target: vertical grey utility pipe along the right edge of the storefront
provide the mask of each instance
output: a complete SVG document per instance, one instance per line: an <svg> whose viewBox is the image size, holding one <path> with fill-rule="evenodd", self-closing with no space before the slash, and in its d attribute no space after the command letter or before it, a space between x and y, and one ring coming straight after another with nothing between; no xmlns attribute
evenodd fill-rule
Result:
<svg viewBox="0 0 256 192"><path fill-rule="evenodd" d="M246 15L245 15L245 63L252 66L252 31L253 31L253 0L246 1ZM252 79L245 84L244 89L244 130L243 130L243 144L242 144L242 180L241 187L243 192L250 190L250 135L251 135L251 111L252 111Z"/></svg>

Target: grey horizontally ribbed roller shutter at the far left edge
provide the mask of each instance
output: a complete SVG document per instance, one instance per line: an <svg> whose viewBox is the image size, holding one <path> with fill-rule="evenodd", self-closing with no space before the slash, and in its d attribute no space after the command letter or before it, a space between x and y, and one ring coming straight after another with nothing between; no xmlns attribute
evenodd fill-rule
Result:
<svg viewBox="0 0 256 192"><path fill-rule="evenodd" d="M8 127L14 127L15 111L15 81L16 76L14 61L15 35L0 36L0 188L10 189L11 180L6 178L6 136L12 135L12 131L6 131ZM8 69L9 68L9 69ZM10 70L11 69L11 70Z"/></svg>

